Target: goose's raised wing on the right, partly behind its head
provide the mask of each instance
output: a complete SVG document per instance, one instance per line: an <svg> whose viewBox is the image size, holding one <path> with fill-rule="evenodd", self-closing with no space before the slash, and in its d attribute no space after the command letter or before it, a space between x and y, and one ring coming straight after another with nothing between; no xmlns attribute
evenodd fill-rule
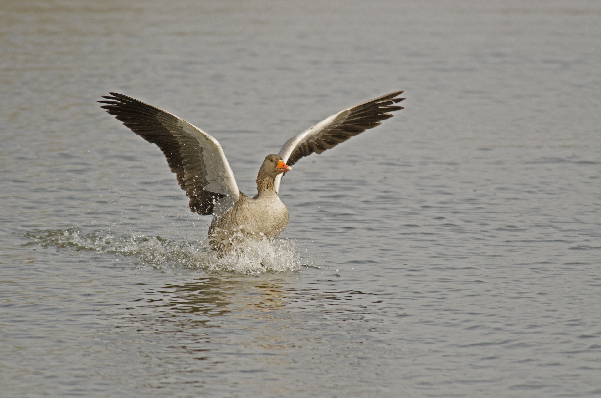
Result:
<svg viewBox="0 0 601 398"><path fill-rule="evenodd" d="M322 153L352 136L382 124L380 120L394 116L387 112L403 109L403 106L392 105L404 100L404 98L395 98L401 93L403 91L395 91L325 118L315 126L288 139L278 155L291 166L313 152ZM273 188L276 192L279 192L279 184L284 174L279 174L275 179Z"/></svg>

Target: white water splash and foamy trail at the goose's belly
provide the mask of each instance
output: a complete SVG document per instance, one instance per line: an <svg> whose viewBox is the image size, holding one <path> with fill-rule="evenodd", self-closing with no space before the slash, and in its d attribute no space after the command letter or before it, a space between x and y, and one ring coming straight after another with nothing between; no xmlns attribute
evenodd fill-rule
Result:
<svg viewBox="0 0 601 398"><path fill-rule="evenodd" d="M84 233L77 228L69 228L35 230L26 233L25 237L29 239L25 245L120 254L135 257L136 263L152 265L155 268L180 265L209 271L258 275L264 272L294 271L303 266L294 243L286 239L276 239L274 242L267 239L247 240L237 245L230 253L221 254L210 249L207 239L200 242L183 242L135 232Z"/></svg>

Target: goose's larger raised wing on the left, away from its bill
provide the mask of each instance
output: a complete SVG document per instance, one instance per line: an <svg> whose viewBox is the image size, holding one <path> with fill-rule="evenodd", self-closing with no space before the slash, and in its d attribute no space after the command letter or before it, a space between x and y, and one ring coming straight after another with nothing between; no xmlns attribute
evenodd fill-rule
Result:
<svg viewBox="0 0 601 398"><path fill-rule="evenodd" d="M100 108L115 115L134 133L157 144L177 182L190 198L192 212L219 214L240 196L236 179L219 142L203 130L169 112L123 94L103 97Z"/></svg>

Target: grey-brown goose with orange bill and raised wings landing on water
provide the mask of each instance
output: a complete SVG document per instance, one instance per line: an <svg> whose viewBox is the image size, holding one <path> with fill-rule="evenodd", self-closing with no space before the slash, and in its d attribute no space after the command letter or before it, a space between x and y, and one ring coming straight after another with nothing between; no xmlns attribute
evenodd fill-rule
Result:
<svg viewBox="0 0 601 398"><path fill-rule="evenodd" d="M382 124L388 112L403 109L392 105L404 100L394 91L331 115L288 139L278 154L263 160L257 175L257 195L239 191L230 164L219 142L191 123L119 93L99 101L117 120L165 155L180 187L186 191L191 212L213 215L209 243L231 250L246 239L273 240L288 224L288 209L279 199L282 176L299 159L334 148L352 136Z"/></svg>

